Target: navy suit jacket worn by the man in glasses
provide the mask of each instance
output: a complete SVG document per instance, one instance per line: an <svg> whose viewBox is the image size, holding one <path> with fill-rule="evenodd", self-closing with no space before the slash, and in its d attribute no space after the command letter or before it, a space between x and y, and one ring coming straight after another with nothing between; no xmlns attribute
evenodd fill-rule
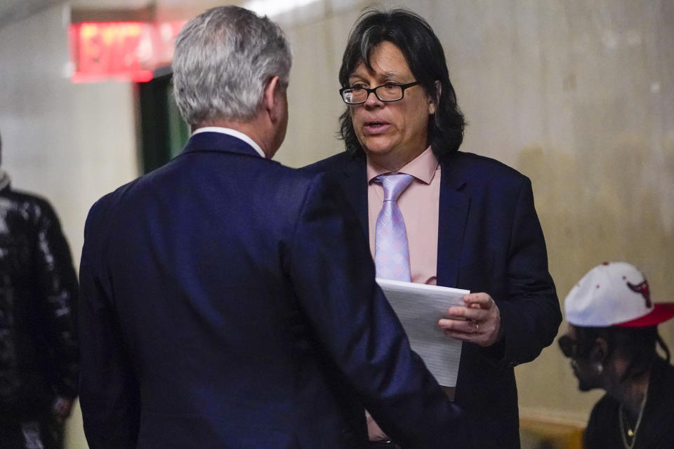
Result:
<svg viewBox="0 0 674 449"><path fill-rule="evenodd" d="M364 155L341 153L303 170L333 177L368 233ZM536 358L562 320L531 182L494 159L456 152L441 161L440 185L437 284L489 293L503 328L489 348L463 344L455 401L470 431L452 447L519 448L513 367Z"/></svg>

